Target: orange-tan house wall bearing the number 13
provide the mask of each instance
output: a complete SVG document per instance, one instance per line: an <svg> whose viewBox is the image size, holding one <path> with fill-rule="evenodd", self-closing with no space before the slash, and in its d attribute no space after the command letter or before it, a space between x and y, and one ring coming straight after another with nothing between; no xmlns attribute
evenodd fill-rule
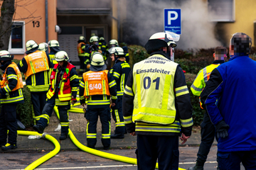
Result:
<svg viewBox="0 0 256 170"><path fill-rule="evenodd" d="M28 4L28 5L27 5ZM46 8L45 0L18 1L14 21L25 21L25 42L35 40L38 44L46 42ZM55 25L57 25L57 0L48 0L48 40L57 40ZM34 26L39 21L39 27ZM35 24L37 25L37 24ZM21 60L23 55L15 55L15 59Z"/></svg>

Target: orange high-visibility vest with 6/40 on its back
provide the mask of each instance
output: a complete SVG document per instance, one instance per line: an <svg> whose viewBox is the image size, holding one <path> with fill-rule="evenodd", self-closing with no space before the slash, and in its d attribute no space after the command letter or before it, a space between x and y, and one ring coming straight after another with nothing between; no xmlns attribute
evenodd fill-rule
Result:
<svg viewBox="0 0 256 170"><path fill-rule="evenodd" d="M82 74L82 78L85 81L84 96L86 98L97 94L110 96L107 72L107 70L100 72L89 71Z"/></svg>

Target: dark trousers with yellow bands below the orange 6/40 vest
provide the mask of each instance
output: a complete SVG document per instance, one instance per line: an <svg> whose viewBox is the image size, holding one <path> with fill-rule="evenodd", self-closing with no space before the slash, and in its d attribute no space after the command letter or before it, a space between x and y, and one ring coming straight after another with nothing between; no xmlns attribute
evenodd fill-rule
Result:
<svg viewBox="0 0 256 170"><path fill-rule="evenodd" d="M97 120L100 116L102 124L102 145L106 149L110 147L110 106L104 108L87 108L85 118L87 120L86 137L87 146L94 148L97 142Z"/></svg>

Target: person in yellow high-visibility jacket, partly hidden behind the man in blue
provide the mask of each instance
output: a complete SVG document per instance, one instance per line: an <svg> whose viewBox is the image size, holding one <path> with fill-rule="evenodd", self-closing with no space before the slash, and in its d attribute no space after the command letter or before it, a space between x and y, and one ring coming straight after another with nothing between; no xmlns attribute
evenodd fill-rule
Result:
<svg viewBox="0 0 256 170"><path fill-rule="evenodd" d="M201 69L191 85L193 95L201 95L201 92L206 86L206 82L208 79L210 79L210 73L213 71L213 69L225 62L227 53L228 50L225 47L215 47L215 52L213 53L213 63ZM215 126L213 123L211 123L208 113L205 113L203 116L203 122L201 123L201 144L198 149L196 166L190 167L188 170L203 170L203 165L206 162L208 153L210 152L210 147L213 145L214 137Z"/></svg>

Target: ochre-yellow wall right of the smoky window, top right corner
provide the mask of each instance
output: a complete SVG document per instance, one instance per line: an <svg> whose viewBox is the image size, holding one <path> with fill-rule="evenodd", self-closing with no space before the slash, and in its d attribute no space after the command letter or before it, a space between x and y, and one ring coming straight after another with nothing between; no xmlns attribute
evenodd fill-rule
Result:
<svg viewBox="0 0 256 170"><path fill-rule="evenodd" d="M229 44L230 38L234 33L242 32L252 38L254 44L254 21L256 19L256 1L255 0L234 0L235 1L235 22L218 23L224 30L225 42Z"/></svg>

